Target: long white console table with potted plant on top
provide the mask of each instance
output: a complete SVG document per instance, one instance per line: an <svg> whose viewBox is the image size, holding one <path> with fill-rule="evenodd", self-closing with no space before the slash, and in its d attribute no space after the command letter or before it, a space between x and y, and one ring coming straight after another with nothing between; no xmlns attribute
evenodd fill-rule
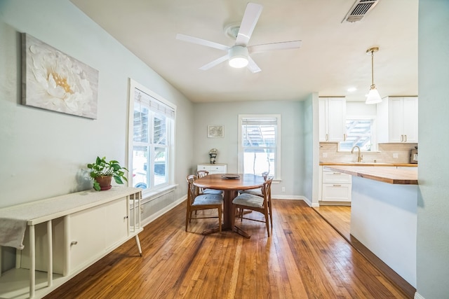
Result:
<svg viewBox="0 0 449 299"><path fill-rule="evenodd" d="M15 269L1 273L0 298L41 298L132 237L142 256L141 197L140 188L113 187L0 209L8 228L0 229L0 245L17 249ZM36 287L36 273L45 272L46 282Z"/></svg>

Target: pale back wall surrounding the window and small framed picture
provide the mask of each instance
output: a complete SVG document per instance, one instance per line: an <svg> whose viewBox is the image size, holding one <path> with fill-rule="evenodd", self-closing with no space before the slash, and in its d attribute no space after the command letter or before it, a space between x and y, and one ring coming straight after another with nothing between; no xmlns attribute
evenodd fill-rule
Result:
<svg viewBox="0 0 449 299"><path fill-rule="evenodd" d="M239 114L281 114L281 179L273 184L272 193L284 197L304 195L304 102L219 102L194 105L194 159L191 172L196 172L196 164L209 161L210 148L217 148L217 163L227 164L230 173L237 172L237 152L239 148ZM208 125L224 125L224 138L208 138ZM286 192L282 193L281 188Z"/></svg>

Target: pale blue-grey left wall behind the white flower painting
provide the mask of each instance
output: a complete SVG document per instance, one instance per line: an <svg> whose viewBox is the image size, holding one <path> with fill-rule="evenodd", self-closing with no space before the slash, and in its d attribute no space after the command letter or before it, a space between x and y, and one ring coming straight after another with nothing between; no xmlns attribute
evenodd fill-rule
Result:
<svg viewBox="0 0 449 299"><path fill-rule="evenodd" d="M99 71L98 119L22 106L20 32ZM177 105L175 199L192 165L193 105L70 1L0 1L0 207L91 188L97 155L126 161L128 78Z"/></svg>

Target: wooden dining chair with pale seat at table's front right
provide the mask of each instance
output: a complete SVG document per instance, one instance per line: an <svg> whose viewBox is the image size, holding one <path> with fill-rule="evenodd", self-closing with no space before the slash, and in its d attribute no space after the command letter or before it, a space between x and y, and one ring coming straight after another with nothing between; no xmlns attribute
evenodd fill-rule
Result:
<svg viewBox="0 0 449 299"><path fill-rule="evenodd" d="M267 178L267 180L264 182L264 185L262 186L262 196L259 195L253 195L250 193L242 193L241 195L237 196L232 200L232 212L236 213L236 209L248 209L251 211L258 211L262 214L264 214L264 220L259 220L255 218L248 218L245 217L245 214L242 213L239 215L241 218L241 221L243 219L248 219L252 221L259 221L265 223L267 226L267 233L269 237L269 223L271 223L273 228L273 218L272 218L272 212L271 212L271 200L272 200L272 181L273 178ZM235 225L235 218L232 218L232 227Z"/></svg>

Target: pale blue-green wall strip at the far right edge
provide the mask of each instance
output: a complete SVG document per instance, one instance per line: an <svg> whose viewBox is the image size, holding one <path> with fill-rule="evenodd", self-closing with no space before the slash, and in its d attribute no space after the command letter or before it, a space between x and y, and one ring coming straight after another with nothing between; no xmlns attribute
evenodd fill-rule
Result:
<svg viewBox="0 0 449 299"><path fill-rule="evenodd" d="M449 1L420 0L418 16L417 293L449 294Z"/></svg>

